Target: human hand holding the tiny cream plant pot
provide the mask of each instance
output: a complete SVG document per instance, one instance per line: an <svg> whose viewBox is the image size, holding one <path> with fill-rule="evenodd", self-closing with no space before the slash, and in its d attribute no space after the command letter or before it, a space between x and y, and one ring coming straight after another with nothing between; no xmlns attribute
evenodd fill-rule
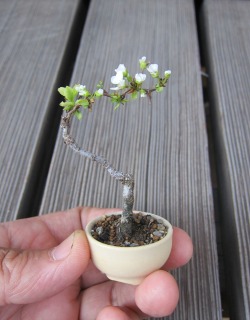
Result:
<svg viewBox="0 0 250 320"><path fill-rule="evenodd" d="M139 286L113 282L92 264L83 231L89 220L112 211L117 210L75 208L0 224L0 319L131 320L171 314L179 291L166 270L189 261L190 237L174 228L167 263Z"/></svg>

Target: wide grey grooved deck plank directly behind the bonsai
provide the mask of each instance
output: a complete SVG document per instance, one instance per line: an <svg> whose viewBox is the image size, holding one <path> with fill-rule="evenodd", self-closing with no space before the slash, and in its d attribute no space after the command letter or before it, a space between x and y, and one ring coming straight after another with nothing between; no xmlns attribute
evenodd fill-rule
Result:
<svg viewBox="0 0 250 320"><path fill-rule="evenodd" d="M91 2L72 84L109 87L119 63L138 71L143 55L170 68L168 89L114 112L95 105L74 134L87 150L134 172L136 208L167 217L192 236L195 255L175 275L180 304L171 319L221 319L213 200L193 1ZM121 189L98 166L73 154L61 133L41 214L77 205L121 206Z"/></svg>

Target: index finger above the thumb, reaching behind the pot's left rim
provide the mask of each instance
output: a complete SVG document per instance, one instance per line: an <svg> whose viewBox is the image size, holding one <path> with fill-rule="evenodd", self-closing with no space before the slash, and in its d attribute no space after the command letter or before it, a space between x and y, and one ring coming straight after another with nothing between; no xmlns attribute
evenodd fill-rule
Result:
<svg viewBox="0 0 250 320"><path fill-rule="evenodd" d="M0 247L48 249L66 239L75 230L84 229L98 215L117 209L78 207L44 216L0 224ZM23 237L23 234L26 236Z"/></svg>

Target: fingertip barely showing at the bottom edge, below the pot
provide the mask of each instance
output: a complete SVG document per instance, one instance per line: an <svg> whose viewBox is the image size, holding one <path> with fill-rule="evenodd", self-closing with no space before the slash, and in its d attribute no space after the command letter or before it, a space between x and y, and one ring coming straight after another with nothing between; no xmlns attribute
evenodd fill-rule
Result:
<svg viewBox="0 0 250 320"><path fill-rule="evenodd" d="M108 306L102 309L96 320L138 320L140 319L135 312L129 308L118 308Z"/></svg>

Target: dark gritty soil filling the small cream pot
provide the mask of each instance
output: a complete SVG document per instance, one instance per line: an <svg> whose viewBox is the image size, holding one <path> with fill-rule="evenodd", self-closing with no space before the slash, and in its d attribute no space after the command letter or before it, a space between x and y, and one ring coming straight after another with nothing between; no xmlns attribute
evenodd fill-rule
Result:
<svg viewBox="0 0 250 320"><path fill-rule="evenodd" d="M109 215L99 220L92 228L94 239L118 247L137 247L157 242L168 233L163 220L142 213L133 214L133 233L122 236L119 232L121 215Z"/></svg>

